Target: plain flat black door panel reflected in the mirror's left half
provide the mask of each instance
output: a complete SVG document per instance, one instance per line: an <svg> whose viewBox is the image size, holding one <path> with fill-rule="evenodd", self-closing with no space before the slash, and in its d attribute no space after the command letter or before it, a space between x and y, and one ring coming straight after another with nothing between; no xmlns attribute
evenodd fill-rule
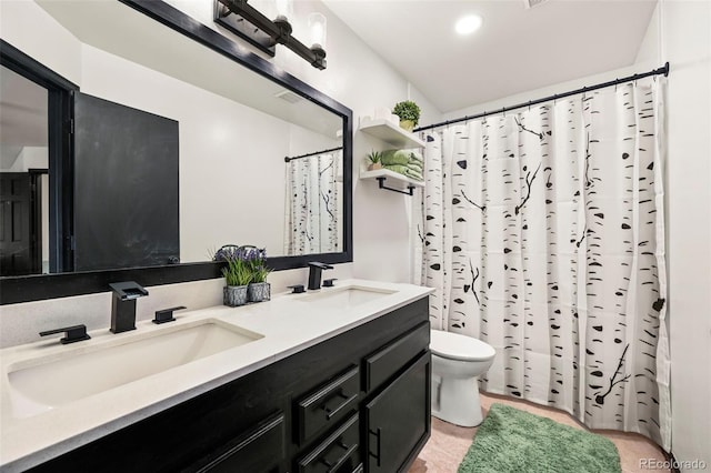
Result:
<svg viewBox="0 0 711 473"><path fill-rule="evenodd" d="M180 261L178 122L74 97L74 270Z"/></svg>

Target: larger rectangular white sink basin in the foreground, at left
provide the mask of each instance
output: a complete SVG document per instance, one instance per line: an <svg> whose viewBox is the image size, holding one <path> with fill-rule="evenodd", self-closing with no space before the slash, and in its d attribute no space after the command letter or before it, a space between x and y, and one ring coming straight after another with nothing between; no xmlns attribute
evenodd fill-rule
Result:
<svg viewBox="0 0 711 473"><path fill-rule="evenodd" d="M126 343L78 343L66 354L10 366L13 415L37 415L263 338L213 319L136 335Z"/></svg>

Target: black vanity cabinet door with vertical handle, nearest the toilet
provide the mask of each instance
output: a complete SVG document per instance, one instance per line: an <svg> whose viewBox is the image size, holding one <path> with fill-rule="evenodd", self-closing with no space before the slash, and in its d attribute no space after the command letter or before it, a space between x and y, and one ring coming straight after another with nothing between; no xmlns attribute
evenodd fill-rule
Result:
<svg viewBox="0 0 711 473"><path fill-rule="evenodd" d="M365 405L368 473L403 471L430 436L430 352Z"/></svg>

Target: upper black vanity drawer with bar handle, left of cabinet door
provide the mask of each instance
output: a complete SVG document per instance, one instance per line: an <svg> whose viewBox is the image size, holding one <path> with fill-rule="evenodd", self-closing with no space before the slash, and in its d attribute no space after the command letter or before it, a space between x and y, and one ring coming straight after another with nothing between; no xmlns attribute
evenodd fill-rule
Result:
<svg viewBox="0 0 711 473"><path fill-rule="evenodd" d="M322 429L336 425L358 407L359 373L358 366L353 365L299 401L299 444Z"/></svg>

